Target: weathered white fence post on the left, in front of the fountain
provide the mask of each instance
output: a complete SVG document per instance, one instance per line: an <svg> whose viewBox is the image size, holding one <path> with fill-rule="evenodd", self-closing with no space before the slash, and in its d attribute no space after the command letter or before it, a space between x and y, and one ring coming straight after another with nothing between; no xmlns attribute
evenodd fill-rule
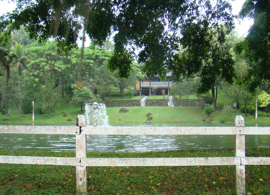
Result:
<svg viewBox="0 0 270 195"><path fill-rule="evenodd" d="M84 115L77 116L77 126L80 127L80 135L76 135L76 158L86 158L86 135L81 134L81 127L86 126ZM80 160L81 162L81 160ZM77 195L87 194L86 166L76 166Z"/></svg>

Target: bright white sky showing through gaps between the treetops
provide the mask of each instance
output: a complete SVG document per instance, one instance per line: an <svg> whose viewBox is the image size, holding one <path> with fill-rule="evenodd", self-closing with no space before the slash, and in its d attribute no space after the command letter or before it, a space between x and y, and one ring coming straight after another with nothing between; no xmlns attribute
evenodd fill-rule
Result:
<svg viewBox="0 0 270 195"><path fill-rule="evenodd" d="M232 14L237 15L245 2L245 0L228 0L232 4ZM5 12L12 11L15 8L16 4L14 2L8 2L8 0L0 1L0 15ZM244 19L244 20L235 20L235 30L238 32L239 36L247 36L249 27L253 24L253 20ZM87 39L89 42L89 39ZM88 45L86 42L86 46Z"/></svg>

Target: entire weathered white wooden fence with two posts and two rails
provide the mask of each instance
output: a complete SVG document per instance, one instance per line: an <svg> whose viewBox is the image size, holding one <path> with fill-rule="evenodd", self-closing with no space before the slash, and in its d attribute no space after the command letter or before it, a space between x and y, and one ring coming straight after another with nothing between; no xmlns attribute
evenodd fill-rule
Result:
<svg viewBox="0 0 270 195"><path fill-rule="evenodd" d="M76 157L0 156L0 163L76 166L77 194L87 194L87 166L205 166L235 165L236 194L245 194L245 165L270 165L270 157L245 157L245 135L269 135L270 127L245 127L237 116L234 127L86 127L83 115L77 126L0 126L8 134L76 135ZM86 135L235 135L234 157L201 158L86 158Z"/></svg>

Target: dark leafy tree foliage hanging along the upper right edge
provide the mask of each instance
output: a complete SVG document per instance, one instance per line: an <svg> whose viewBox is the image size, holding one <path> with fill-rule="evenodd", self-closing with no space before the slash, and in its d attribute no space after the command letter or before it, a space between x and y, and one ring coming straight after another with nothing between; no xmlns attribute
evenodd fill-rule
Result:
<svg viewBox="0 0 270 195"><path fill-rule="evenodd" d="M243 52L254 65L242 77L242 82L251 91L270 80L270 2L246 0L239 18L253 18L254 23L244 41L235 46L238 53ZM269 88L270 85L268 85Z"/></svg>

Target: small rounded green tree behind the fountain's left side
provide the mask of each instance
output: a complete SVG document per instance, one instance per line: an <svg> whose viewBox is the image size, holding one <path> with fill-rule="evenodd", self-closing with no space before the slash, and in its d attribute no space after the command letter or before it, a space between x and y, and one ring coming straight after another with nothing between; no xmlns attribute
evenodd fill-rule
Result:
<svg viewBox="0 0 270 195"><path fill-rule="evenodd" d="M77 88L73 93L72 100L70 101L71 107L79 105L81 111L83 111L85 104L93 103L98 100L98 98L87 87Z"/></svg>

